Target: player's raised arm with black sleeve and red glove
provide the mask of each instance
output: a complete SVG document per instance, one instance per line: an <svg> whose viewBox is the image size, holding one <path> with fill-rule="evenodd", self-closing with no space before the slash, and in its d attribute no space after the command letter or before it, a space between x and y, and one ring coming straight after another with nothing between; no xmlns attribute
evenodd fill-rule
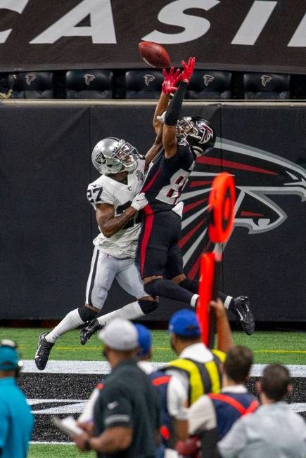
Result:
<svg viewBox="0 0 306 458"><path fill-rule="evenodd" d="M193 74L195 58L189 58L188 64L181 61L184 67L181 72L181 82L179 89L170 101L165 114L165 125L162 131L162 144L165 147L165 157L173 157L177 153L177 131L176 125L181 114L181 105L183 104L187 86Z"/></svg>

